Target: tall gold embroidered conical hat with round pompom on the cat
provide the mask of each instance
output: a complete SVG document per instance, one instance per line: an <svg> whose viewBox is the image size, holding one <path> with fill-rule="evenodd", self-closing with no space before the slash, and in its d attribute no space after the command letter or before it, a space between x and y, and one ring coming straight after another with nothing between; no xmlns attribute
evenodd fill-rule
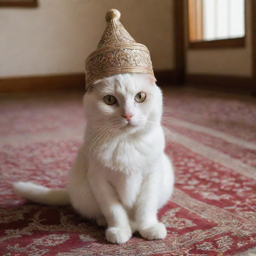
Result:
<svg viewBox="0 0 256 256"><path fill-rule="evenodd" d="M120 23L120 12L111 9L106 14L107 27L97 50L85 62L86 90L106 76L119 73L146 73L154 76L150 53L138 44Z"/></svg>

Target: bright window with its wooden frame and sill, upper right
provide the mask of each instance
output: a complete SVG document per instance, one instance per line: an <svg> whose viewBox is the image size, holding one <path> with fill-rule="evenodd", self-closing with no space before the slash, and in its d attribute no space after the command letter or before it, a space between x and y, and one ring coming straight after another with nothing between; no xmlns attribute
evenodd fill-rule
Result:
<svg viewBox="0 0 256 256"><path fill-rule="evenodd" d="M188 0L189 46L244 46L244 0Z"/></svg>

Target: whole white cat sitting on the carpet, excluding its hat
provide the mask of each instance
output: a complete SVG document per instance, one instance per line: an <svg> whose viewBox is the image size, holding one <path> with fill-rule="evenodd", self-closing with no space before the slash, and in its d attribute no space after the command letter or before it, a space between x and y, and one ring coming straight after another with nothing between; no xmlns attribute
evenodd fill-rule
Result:
<svg viewBox="0 0 256 256"><path fill-rule="evenodd" d="M66 189L17 182L14 191L31 201L68 205L108 226L106 239L127 242L136 230L153 240L166 228L157 209L169 199L173 168L164 153L162 93L155 78L124 73L97 81L84 96L84 143Z"/></svg>

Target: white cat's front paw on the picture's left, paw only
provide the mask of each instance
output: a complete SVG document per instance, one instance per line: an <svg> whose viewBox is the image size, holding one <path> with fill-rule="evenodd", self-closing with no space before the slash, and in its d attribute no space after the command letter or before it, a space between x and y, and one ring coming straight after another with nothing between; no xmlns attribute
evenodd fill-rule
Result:
<svg viewBox="0 0 256 256"><path fill-rule="evenodd" d="M106 239L111 243L126 243L132 236L131 229L110 227L106 231Z"/></svg>

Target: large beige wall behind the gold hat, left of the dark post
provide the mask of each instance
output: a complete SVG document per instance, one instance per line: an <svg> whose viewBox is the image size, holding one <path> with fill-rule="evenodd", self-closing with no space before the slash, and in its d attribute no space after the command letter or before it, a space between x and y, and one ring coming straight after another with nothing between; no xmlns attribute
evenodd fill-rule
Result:
<svg viewBox="0 0 256 256"><path fill-rule="evenodd" d="M173 69L173 1L38 0L38 8L1 8L0 77L84 72L111 8L148 47L155 70Z"/></svg>

